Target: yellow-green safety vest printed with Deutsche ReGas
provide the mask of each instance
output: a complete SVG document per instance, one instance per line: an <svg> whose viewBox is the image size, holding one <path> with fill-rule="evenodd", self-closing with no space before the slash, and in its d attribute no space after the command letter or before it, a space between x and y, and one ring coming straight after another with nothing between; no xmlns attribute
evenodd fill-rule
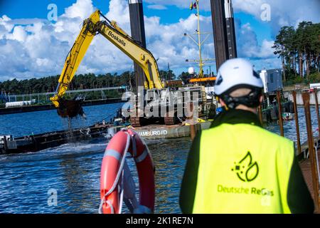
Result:
<svg viewBox="0 0 320 228"><path fill-rule="evenodd" d="M203 130L200 151L194 213L290 213L292 141L255 125L223 124Z"/></svg>

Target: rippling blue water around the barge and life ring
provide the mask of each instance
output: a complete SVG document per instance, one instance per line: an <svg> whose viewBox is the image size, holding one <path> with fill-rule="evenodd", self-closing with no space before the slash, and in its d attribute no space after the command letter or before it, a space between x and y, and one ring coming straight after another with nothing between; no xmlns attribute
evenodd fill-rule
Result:
<svg viewBox="0 0 320 228"><path fill-rule="evenodd" d="M74 127L91 125L114 113L122 104L85 107L87 120ZM306 140L304 110L299 108L302 142ZM316 114L311 108L313 127ZM0 135L15 136L68 128L55 110L0 115ZM267 126L279 133L277 125ZM294 120L284 123L285 135L296 139ZM316 135L316 134L315 134ZM185 166L188 138L148 140L156 166L156 212L179 213L178 193ZM70 143L36 153L0 155L0 213L97 213L100 203L100 166L107 140ZM134 166L129 161L129 166ZM48 190L58 192L58 205L48 206Z"/></svg>

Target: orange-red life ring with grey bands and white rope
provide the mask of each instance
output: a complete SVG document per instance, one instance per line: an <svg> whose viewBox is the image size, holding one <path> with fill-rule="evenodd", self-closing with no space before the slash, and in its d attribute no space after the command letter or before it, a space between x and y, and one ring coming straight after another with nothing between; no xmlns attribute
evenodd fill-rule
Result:
<svg viewBox="0 0 320 228"><path fill-rule="evenodd" d="M148 148L133 130L121 130L110 140L102 160L100 176L100 205L103 214L121 213L119 173L126 152L130 152L139 176L139 204L154 212L154 164Z"/></svg>

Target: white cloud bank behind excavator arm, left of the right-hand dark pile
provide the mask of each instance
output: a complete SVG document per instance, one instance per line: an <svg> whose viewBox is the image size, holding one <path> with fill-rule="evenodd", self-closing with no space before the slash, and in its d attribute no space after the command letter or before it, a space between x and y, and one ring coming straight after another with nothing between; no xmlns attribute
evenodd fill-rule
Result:
<svg viewBox="0 0 320 228"><path fill-rule="evenodd" d="M87 9L87 10L85 10ZM130 34L129 8L125 0L111 0L106 16L117 21ZM91 0L78 0L65 9L55 24L39 19L11 20L0 18L0 80L48 76L62 71L65 56L80 32L83 19L95 10ZM194 33L196 16L191 14L175 24L160 24L159 17L144 17L149 50L159 58L159 67L188 68L185 59L197 58L197 47L183 33ZM18 21L18 22L17 22ZM19 24L19 25L17 25ZM211 19L201 16L201 26L209 28ZM15 26L16 25L16 26ZM212 43L212 38L208 41ZM213 48L204 56L213 57ZM132 60L104 37L97 35L77 73L127 71Z"/></svg>

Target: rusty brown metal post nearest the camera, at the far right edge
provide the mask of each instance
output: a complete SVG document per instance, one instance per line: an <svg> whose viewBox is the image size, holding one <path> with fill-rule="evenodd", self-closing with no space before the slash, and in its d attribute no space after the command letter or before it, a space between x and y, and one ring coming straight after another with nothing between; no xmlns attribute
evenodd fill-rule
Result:
<svg viewBox="0 0 320 228"><path fill-rule="evenodd" d="M308 133L308 145L309 145L309 156L311 162L311 176L312 185L314 188L314 204L316 211L320 208L319 199L319 176L316 162L316 151L314 150L314 137L311 128L311 115L310 115L310 94L309 92L302 93L302 99L304 100L304 113L306 115L306 132Z"/></svg>

